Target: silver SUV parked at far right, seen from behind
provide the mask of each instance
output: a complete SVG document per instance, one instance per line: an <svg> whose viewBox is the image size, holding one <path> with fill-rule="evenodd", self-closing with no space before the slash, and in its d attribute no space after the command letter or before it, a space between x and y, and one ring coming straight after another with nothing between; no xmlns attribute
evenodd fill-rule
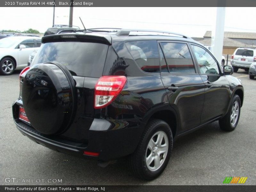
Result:
<svg viewBox="0 0 256 192"><path fill-rule="evenodd" d="M239 68L248 72L254 59L256 59L255 48L239 47L232 55L230 63L234 69L234 72L237 72Z"/></svg>

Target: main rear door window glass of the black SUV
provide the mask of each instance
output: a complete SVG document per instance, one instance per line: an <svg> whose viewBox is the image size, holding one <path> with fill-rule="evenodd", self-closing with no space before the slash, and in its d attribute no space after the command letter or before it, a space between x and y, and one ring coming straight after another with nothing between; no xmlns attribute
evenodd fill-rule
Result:
<svg viewBox="0 0 256 192"><path fill-rule="evenodd" d="M187 44L161 43L161 47L171 73L196 73Z"/></svg>

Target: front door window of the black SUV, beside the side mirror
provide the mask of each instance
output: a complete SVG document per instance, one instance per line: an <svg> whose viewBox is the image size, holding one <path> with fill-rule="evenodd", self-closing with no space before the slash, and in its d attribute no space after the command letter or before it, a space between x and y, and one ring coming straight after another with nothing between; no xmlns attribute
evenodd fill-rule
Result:
<svg viewBox="0 0 256 192"><path fill-rule="evenodd" d="M196 60L202 74L219 74L219 68L214 58L202 47L192 45Z"/></svg>

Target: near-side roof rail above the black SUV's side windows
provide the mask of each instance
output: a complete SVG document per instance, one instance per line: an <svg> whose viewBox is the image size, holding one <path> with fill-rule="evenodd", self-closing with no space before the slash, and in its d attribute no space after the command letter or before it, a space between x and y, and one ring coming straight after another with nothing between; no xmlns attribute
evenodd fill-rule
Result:
<svg viewBox="0 0 256 192"><path fill-rule="evenodd" d="M153 32L153 33L160 33L157 35L161 35L161 36L172 36L172 35L176 35L176 36L181 36L183 38L187 38L187 39L191 39L191 37L185 36L183 34L180 33L173 33L173 32L169 32L169 31L158 31L158 30L147 30L147 29L121 29L119 31L116 32L117 36L136 36L136 35L130 35L130 33L134 31L134 32ZM163 34L161 34L163 33ZM169 35L164 35L164 34L169 34ZM146 34L145 34L146 35ZM150 34L147 34L150 35Z"/></svg>

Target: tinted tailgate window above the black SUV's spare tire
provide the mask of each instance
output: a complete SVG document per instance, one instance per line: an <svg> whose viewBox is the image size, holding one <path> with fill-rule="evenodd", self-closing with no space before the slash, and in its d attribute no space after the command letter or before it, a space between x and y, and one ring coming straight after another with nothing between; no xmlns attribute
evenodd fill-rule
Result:
<svg viewBox="0 0 256 192"><path fill-rule="evenodd" d="M108 45L87 42L52 42L42 44L33 65L56 61L73 76L100 77L108 52Z"/></svg>

